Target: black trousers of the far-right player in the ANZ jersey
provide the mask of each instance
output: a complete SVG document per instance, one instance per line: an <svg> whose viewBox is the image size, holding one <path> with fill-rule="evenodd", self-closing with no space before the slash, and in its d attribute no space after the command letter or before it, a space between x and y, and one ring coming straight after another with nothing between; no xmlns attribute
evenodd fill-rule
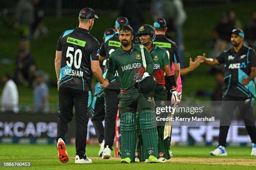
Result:
<svg viewBox="0 0 256 170"><path fill-rule="evenodd" d="M236 107L244 121L248 135L252 143L256 143L256 127L253 119L251 99L245 97L224 96L222 102L222 114L220 117L219 145L226 147L228 129Z"/></svg>

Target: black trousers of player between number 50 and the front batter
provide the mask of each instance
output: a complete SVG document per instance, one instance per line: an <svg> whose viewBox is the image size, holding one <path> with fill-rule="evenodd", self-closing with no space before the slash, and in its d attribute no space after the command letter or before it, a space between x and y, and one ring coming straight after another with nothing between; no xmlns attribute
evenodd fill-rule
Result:
<svg viewBox="0 0 256 170"><path fill-rule="evenodd" d="M110 148L115 138L115 118L118 112L118 95L120 90L105 89L105 127L104 127L104 147Z"/></svg>

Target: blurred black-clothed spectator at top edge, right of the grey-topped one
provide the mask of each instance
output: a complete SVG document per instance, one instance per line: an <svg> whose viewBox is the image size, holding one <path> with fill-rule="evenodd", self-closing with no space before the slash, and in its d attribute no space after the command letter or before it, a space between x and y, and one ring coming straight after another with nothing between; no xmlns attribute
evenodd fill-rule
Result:
<svg viewBox="0 0 256 170"><path fill-rule="evenodd" d="M32 25L32 35L33 38L38 38L40 32L46 35L48 33L48 29L44 25L44 10L42 10L43 1L40 0L32 0L34 5L34 22Z"/></svg>

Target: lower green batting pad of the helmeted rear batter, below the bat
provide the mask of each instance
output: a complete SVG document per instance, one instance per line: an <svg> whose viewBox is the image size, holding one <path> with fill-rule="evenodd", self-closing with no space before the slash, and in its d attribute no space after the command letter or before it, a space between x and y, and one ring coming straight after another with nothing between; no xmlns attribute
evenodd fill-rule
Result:
<svg viewBox="0 0 256 170"><path fill-rule="evenodd" d="M158 133L158 152L159 157L164 157L167 160L171 158L169 153L169 137L164 140L164 126L157 127Z"/></svg>

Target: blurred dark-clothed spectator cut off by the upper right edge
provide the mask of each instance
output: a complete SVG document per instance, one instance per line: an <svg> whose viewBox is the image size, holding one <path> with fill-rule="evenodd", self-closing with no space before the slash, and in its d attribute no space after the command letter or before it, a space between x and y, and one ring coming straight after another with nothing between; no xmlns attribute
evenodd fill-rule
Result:
<svg viewBox="0 0 256 170"><path fill-rule="evenodd" d="M245 39L249 47L256 50L256 12L252 14L251 23L249 23L245 29Z"/></svg>

